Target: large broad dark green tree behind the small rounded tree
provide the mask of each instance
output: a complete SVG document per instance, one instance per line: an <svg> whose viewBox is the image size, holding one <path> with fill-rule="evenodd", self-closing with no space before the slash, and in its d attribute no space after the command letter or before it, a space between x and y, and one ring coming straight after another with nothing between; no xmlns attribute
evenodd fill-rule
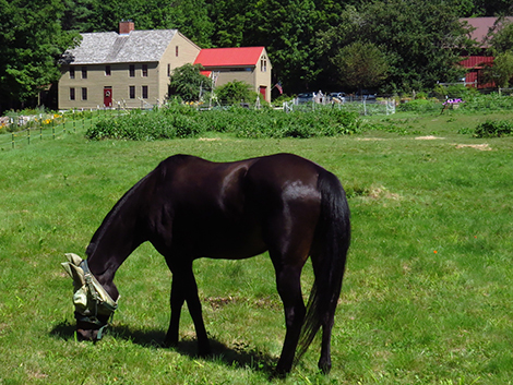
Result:
<svg viewBox="0 0 513 385"><path fill-rule="evenodd" d="M333 58L355 41L383 48L390 65L385 92L431 88L438 81L458 79L456 63L470 45L450 5L422 0L346 7L341 22L319 34L318 46Z"/></svg>

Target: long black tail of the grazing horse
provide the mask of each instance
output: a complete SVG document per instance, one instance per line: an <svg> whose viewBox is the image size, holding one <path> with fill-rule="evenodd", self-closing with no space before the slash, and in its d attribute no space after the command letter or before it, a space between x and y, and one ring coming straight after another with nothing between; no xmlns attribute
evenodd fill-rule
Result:
<svg viewBox="0 0 513 385"><path fill-rule="evenodd" d="M333 326L350 242L349 206L339 180L323 169L318 189L321 192L321 215L311 251L315 279L295 362L307 351L322 325Z"/></svg>

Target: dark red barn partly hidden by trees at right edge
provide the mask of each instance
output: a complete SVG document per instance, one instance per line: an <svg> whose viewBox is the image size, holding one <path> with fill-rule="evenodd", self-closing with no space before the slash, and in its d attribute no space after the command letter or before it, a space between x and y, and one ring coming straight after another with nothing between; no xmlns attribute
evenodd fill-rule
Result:
<svg viewBox="0 0 513 385"><path fill-rule="evenodd" d="M482 69L493 64L493 57L487 53L489 48L488 37L497 31L498 17L464 17L460 21L472 27L470 38L478 43L480 52L472 55L460 62L461 65L468 69L465 75L465 83L476 85L478 88L493 87L493 83L484 84L481 80ZM506 22L513 22L513 17L504 17Z"/></svg>

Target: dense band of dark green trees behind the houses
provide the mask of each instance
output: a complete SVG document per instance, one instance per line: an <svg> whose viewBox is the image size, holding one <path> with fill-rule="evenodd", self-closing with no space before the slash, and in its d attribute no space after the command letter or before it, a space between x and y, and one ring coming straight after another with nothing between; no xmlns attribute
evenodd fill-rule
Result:
<svg viewBox="0 0 513 385"><path fill-rule="evenodd" d="M290 95L356 89L355 76L384 93L455 81L473 49L458 19L512 14L511 0L0 0L0 110L56 82L80 33L117 31L121 20L178 28L203 48L265 46L273 81Z"/></svg>

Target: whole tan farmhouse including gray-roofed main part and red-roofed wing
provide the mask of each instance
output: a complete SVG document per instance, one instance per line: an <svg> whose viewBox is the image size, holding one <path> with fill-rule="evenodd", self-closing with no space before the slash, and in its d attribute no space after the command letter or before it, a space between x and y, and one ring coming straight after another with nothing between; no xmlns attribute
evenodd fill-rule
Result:
<svg viewBox="0 0 513 385"><path fill-rule="evenodd" d="M188 63L201 63L217 86L243 81L271 101L264 47L201 49L178 29L138 31L132 21L121 21L119 33L81 36L61 58L59 109L159 106L169 97L172 71Z"/></svg>

